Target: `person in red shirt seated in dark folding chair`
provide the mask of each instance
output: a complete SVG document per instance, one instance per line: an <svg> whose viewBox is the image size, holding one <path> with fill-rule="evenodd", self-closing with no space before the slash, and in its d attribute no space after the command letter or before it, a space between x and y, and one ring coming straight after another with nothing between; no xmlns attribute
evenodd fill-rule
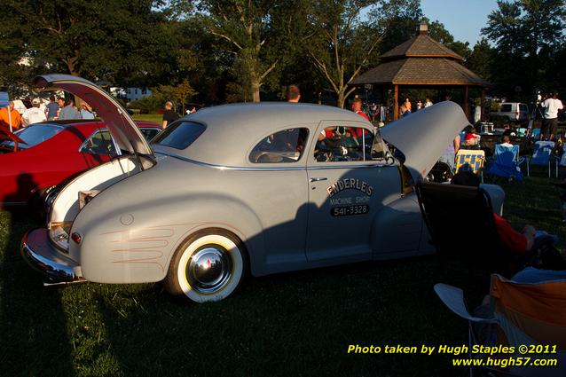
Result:
<svg viewBox="0 0 566 377"><path fill-rule="evenodd" d="M479 187L480 180L473 172L463 170L452 177L451 185ZM524 226L523 232L517 232L511 224L497 214L493 214L493 221L499 240L509 250L521 255L531 250L537 236L537 230L534 226L527 224Z"/></svg>

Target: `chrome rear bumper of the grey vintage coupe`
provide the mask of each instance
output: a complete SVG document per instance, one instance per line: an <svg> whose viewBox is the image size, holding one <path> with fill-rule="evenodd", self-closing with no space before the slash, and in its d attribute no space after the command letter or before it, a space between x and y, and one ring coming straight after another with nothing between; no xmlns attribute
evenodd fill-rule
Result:
<svg viewBox="0 0 566 377"><path fill-rule="evenodd" d="M41 229L35 229L24 234L21 240L20 253L32 269L41 273L50 283L79 282L84 280L83 277L75 273L75 267L80 267L79 265L73 266L71 264L57 263L35 251L33 246L30 246L28 243L28 236L31 232L41 232Z"/></svg>

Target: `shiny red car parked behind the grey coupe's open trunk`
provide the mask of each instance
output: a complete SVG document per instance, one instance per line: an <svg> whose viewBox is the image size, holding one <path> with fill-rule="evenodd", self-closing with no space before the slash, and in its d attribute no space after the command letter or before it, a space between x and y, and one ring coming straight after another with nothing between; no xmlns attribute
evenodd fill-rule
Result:
<svg viewBox="0 0 566 377"><path fill-rule="evenodd" d="M148 140L161 131L156 123L137 124ZM106 124L92 120L35 123L14 134L3 132L2 138L0 209L28 205L41 210L52 188L123 152Z"/></svg>

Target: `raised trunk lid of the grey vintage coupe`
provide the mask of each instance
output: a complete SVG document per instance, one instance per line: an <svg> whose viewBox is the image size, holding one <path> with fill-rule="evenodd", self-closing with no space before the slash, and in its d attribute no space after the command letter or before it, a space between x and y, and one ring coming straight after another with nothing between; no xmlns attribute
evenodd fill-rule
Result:
<svg viewBox="0 0 566 377"><path fill-rule="evenodd" d="M42 90L66 90L83 99L94 107L122 150L145 155L153 154L130 114L111 95L94 83L72 75L40 75L34 78L32 85Z"/></svg>

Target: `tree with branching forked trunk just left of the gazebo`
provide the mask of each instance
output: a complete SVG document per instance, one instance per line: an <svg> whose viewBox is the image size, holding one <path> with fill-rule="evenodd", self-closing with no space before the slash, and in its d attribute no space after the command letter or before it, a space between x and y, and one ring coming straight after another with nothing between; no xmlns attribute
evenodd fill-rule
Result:
<svg viewBox="0 0 566 377"><path fill-rule="evenodd" d="M314 30L307 51L342 108L346 98L356 90L349 88L351 82L376 56L381 41L376 30L360 21L362 9L373 3L363 0L312 2Z"/></svg>

